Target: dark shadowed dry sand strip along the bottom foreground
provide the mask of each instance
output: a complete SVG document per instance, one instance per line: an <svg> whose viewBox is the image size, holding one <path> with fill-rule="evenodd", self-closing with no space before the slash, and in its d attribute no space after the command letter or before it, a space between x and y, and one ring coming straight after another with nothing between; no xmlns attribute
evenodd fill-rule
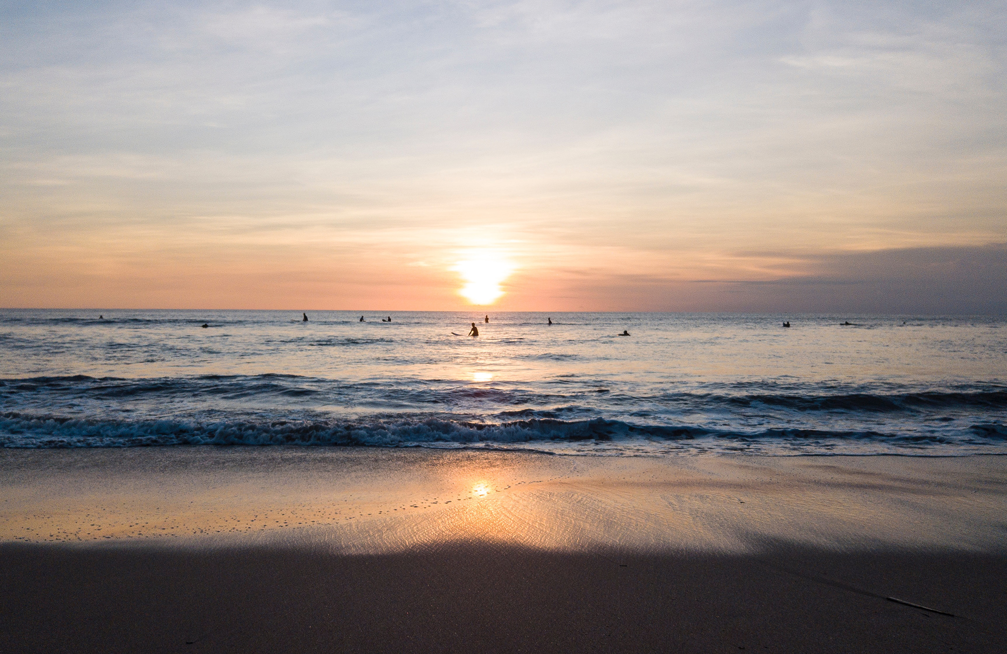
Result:
<svg viewBox="0 0 1007 654"><path fill-rule="evenodd" d="M0 651L1007 651L1007 555L768 551L3 545Z"/></svg>

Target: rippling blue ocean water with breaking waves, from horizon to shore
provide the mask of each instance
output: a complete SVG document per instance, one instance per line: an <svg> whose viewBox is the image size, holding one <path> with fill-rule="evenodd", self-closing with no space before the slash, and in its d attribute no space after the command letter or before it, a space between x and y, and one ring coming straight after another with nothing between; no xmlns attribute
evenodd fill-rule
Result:
<svg viewBox="0 0 1007 654"><path fill-rule="evenodd" d="M483 315L0 310L0 444L1007 454L1003 317Z"/></svg>

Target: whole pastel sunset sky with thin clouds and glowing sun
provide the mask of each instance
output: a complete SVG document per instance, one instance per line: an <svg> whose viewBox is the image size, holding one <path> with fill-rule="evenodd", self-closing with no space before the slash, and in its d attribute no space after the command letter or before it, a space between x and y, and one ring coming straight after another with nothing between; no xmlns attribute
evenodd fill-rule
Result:
<svg viewBox="0 0 1007 654"><path fill-rule="evenodd" d="M1007 313L1005 79L1003 1L0 2L0 306Z"/></svg>

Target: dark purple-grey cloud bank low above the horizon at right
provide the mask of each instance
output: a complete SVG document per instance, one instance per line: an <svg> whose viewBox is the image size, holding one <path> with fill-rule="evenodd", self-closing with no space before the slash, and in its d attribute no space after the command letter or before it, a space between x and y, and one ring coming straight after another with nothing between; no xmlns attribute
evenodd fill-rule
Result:
<svg viewBox="0 0 1007 654"><path fill-rule="evenodd" d="M785 276L757 281L620 274L571 284L554 301L593 308L585 304L593 293L594 306L623 311L1007 314L1007 243L818 254L783 268Z"/></svg>

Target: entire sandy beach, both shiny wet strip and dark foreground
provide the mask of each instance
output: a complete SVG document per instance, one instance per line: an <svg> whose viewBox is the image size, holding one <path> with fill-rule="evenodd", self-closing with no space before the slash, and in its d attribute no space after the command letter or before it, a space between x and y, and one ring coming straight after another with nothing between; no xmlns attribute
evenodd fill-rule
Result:
<svg viewBox="0 0 1007 654"><path fill-rule="evenodd" d="M1007 651L1002 457L0 456L3 652Z"/></svg>

